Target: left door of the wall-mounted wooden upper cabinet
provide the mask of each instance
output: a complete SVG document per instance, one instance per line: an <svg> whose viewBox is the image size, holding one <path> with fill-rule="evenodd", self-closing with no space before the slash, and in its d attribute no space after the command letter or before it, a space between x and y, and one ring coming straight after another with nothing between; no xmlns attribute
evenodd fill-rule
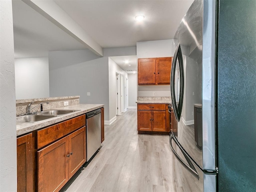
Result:
<svg viewBox="0 0 256 192"><path fill-rule="evenodd" d="M156 60L138 59L138 84L156 84Z"/></svg>

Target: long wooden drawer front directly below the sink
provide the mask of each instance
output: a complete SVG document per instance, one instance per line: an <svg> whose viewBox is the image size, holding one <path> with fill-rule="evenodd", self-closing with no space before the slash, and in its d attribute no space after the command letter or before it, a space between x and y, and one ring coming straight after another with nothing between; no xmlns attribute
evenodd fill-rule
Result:
<svg viewBox="0 0 256 192"><path fill-rule="evenodd" d="M37 131L37 149L85 126L85 115Z"/></svg>

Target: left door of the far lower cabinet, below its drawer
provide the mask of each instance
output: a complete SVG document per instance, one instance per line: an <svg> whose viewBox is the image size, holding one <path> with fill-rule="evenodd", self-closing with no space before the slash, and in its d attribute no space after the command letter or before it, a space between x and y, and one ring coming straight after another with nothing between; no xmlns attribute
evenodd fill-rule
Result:
<svg viewBox="0 0 256 192"><path fill-rule="evenodd" d="M152 117L151 111L138 111L138 131L151 131L152 130Z"/></svg>

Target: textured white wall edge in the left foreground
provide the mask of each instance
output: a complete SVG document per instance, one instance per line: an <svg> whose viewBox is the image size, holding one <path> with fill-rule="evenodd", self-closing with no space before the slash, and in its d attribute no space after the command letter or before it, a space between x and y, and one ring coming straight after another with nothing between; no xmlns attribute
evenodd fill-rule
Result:
<svg viewBox="0 0 256 192"><path fill-rule="evenodd" d="M17 190L12 1L0 1L0 191Z"/></svg>

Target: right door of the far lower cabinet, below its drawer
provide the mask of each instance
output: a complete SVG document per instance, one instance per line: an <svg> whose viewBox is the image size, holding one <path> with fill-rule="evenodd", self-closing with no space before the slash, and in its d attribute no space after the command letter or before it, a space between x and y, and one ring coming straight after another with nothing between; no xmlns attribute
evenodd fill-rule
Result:
<svg viewBox="0 0 256 192"><path fill-rule="evenodd" d="M165 111L152 111L152 130L166 131L166 113Z"/></svg>

